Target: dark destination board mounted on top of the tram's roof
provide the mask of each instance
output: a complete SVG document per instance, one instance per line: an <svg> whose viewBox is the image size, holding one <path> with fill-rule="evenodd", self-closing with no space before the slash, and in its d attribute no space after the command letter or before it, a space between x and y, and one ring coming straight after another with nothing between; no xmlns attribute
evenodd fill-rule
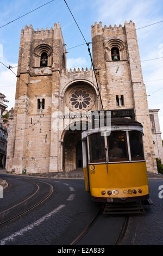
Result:
<svg viewBox="0 0 163 256"><path fill-rule="evenodd" d="M106 117L116 117L116 118L122 118L127 117L135 120L135 112L134 108L127 108L127 109L113 109L113 110L104 110L104 111L91 111L92 114L92 123L95 122L95 120L99 120L101 118Z"/></svg>

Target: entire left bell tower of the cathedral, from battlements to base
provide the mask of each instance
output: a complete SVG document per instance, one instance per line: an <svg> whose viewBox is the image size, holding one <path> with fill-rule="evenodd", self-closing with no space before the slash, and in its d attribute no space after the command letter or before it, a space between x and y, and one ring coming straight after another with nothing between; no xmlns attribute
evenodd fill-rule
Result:
<svg viewBox="0 0 163 256"><path fill-rule="evenodd" d="M58 169L58 133L52 129L59 108L60 73L66 48L60 23L44 31L25 26L18 57L9 170L22 173Z"/></svg>

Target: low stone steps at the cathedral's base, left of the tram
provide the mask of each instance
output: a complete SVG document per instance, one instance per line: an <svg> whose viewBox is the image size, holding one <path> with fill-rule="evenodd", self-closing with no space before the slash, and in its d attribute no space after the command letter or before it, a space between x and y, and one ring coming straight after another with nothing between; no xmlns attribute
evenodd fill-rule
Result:
<svg viewBox="0 0 163 256"><path fill-rule="evenodd" d="M27 173L24 176L36 176L42 178L54 178L54 179L84 179L83 168L72 170L71 172L52 172L52 173Z"/></svg>

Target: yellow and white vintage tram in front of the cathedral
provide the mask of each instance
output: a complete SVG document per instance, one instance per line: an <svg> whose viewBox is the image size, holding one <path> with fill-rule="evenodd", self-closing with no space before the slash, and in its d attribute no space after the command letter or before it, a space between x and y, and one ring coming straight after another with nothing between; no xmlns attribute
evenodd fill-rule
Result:
<svg viewBox="0 0 163 256"><path fill-rule="evenodd" d="M97 202L150 204L143 126L133 119L111 118L109 136L105 128L82 133L86 191Z"/></svg>

